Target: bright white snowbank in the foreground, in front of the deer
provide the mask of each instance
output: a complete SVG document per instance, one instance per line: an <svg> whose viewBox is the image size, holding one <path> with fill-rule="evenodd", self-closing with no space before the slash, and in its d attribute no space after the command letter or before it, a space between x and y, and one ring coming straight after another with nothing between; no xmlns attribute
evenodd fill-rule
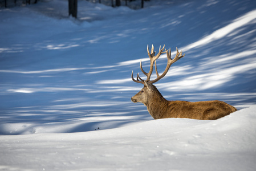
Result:
<svg viewBox="0 0 256 171"><path fill-rule="evenodd" d="M83 133L2 136L2 170L255 170L256 106Z"/></svg>

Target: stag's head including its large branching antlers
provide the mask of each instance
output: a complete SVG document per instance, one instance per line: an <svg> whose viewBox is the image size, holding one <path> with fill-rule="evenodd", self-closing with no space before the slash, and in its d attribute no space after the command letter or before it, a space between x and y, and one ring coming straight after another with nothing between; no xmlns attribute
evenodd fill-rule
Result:
<svg viewBox="0 0 256 171"><path fill-rule="evenodd" d="M182 51L178 52L178 48L176 47L177 53L176 53L175 58L172 59L170 48L169 48L169 50L166 50L164 47L161 48L161 46L160 46L159 53L156 56L155 56L156 52L154 52L153 44L152 44L152 48L151 48L151 53L149 52L149 49L147 47L148 56L149 56L149 59L150 59L150 62L151 62L148 73L143 70L142 63L140 61L140 69L143 72L143 74L147 76L146 80L141 79L140 76L139 76L139 73L137 74L137 79L135 80L133 78L133 71L132 71L132 80L133 80L133 82L141 83L141 84L144 85L143 89L141 89L141 91L139 91L135 96L133 96L131 98L131 100L134 103L140 102L140 103L143 103L143 104L148 106L149 101L159 101L159 100L161 100L161 98L163 98L161 93L157 90L157 88L155 86L153 86L153 83L156 83L161 78L163 78L167 74L170 66L174 62L176 62L177 60L183 58L184 55L185 55L185 54L182 55ZM165 49L165 51L164 51L164 49ZM167 65L166 65L165 71L161 75L159 75L159 73L157 72L156 60L160 57L161 54L164 54L164 53L166 53L166 56L167 56ZM152 72L153 72L154 63L155 63L155 70L156 70L157 78L155 80L150 80Z"/></svg>

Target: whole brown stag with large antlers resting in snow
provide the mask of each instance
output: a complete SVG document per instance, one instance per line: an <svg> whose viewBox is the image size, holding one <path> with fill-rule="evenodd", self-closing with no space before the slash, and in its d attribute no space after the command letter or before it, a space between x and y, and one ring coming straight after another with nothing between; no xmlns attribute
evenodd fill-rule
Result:
<svg viewBox="0 0 256 171"><path fill-rule="evenodd" d="M152 44L151 52L147 46L148 56L150 59L149 72L143 70L143 66L140 60L140 69L147 79L143 80L140 78L139 73L137 73L137 78L133 78L132 71L132 80L135 83L143 84L144 87L139 91L135 96L131 97L133 103L143 103L147 106L149 114L153 119L164 119L164 118L188 118L188 119L197 119L197 120L216 120L229 115L232 112L237 111L235 107L225 103L224 101L212 100L212 101L168 101L166 100L161 93L158 91L156 86L153 83L158 82L162 79L168 72L170 66L177 62L177 60L185 56L182 55L182 51L178 51L176 47L176 56L171 58L171 51L166 50L165 45L159 48L159 53L155 56L154 46ZM164 51L165 50L165 51ZM166 53L167 56L167 65L164 72L159 75L156 66L156 60L160 57L161 54ZM155 63L156 79L151 80L151 75L153 72L153 66Z"/></svg>

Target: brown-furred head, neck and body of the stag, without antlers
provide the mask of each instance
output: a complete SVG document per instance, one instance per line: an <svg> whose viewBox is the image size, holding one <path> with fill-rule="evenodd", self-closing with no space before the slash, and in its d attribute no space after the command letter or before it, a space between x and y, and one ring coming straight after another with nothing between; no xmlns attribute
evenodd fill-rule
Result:
<svg viewBox="0 0 256 171"><path fill-rule="evenodd" d="M136 102L145 104L149 114L154 119L162 119L169 117L200 119L200 120L215 120L237 109L224 101L168 101L155 86L147 83L140 92L131 98Z"/></svg>

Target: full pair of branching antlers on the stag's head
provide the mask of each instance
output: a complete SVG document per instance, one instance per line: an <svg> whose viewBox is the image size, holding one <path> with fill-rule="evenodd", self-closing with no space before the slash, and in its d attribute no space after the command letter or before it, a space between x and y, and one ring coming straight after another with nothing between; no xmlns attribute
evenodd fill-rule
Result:
<svg viewBox="0 0 256 171"><path fill-rule="evenodd" d="M165 47L165 46L164 46L164 47ZM165 49L165 51L163 52L164 47L162 47L162 48L161 48L161 46L159 47L159 53L158 53L156 56L155 56L155 53L156 53L156 52L154 52L154 46L153 46L153 44L152 44L152 48L151 48L151 53L149 53L149 49L148 49L148 47L147 47L148 56L149 56L149 59L150 59L150 61L151 61L150 69L149 69L149 72L148 72L148 73L143 70L143 68L142 68L142 63L141 63L141 60L140 60L140 69L141 69L141 71L143 72L143 74L145 74L145 75L147 76L147 80L141 79L140 76L139 76L139 73L137 74L137 80L135 80L135 79L133 78L133 71L132 71L132 80L133 80L133 82L141 83L141 84L144 84L144 85L145 85L144 82L148 82L148 83L151 83L151 84L156 83L157 81L159 81L161 78L163 78L163 77L167 74L167 72L168 72L170 66L171 66L174 62L176 62L177 60L179 60L179 59L181 59L181 58L183 58L183 57L185 56L185 54L182 55L182 51L181 51L181 52L178 52L178 48L176 47L176 50L177 50L176 56L175 56L174 59L172 59L172 58L170 58L170 57L171 57L170 48L169 48L169 50L166 50L166 49ZM165 71L164 71L161 75L159 75L159 73L158 73L158 71L157 71L156 60L157 60L157 59L159 58L159 56L160 56L161 54L163 54L163 53L166 53L166 56L167 56L167 65L166 65ZM154 62L155 62L155 70L156 70L157 78L156 78L155 80L150 80L151 75L152 75L152 72L153 72Z"/></svg>

